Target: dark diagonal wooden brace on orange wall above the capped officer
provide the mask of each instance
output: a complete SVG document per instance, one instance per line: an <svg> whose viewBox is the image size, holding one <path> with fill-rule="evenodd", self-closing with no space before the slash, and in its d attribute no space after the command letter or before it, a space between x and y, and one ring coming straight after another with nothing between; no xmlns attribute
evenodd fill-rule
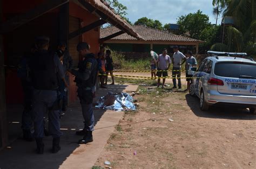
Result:
<svg viewBox="0 0 256 169"><path fill-rule="evenodd" d="M69 39L72 39L72 38L75 38L77 36L80 36L81 34L87 32L87 31L90 31L92 29L95 29L95 27L98 27L98 26L101 26L103 24L107 23L105 20L103 19L100 19L100 20L97 20L96 22L93 22L89 25L86 25L82 28L80 28L79 30L75 31L75 32L72 32L69 34Z"/></svg>

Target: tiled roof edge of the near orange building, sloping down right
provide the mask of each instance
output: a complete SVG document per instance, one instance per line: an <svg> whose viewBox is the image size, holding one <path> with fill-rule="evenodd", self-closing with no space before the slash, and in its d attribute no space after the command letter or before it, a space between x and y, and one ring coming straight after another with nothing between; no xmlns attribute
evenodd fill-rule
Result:
<svg viewBox="0 0 256 169"><path fill-rule="evenodd" d="M124 32L128 33L131 37L134 37L134 39L143 39L136 31L134 31L133 27L127 23L126 20L120 17L105 1L85 0L85 3L89 3L91 6L93 6L93 8L104 13L104 15L107 17L107 22L119 27L119 29L122 29ZM97 13L97 11L95 11L95 13Z"/></svg>

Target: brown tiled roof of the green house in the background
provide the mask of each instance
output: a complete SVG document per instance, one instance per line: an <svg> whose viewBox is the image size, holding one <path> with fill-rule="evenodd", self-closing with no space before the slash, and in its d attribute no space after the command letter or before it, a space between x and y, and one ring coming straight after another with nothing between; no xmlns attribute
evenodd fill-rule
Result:
<svg viewBox="0 0 256 169"><path fill-rule="evenodd" d="M167 31L161 31L158 29L153 29L144 25L134 25L134 31L136 31L143 39L146 41L182 41L182 42L203 42L197 39L187 38L183 36L178 36ZM100 30L100 38L107 37L113 33L119 32L120 30L114 26L105 27ZM127 33L121 34L120 36L114 37L110 40L137 40L136 38L130 36Z"/></svg>

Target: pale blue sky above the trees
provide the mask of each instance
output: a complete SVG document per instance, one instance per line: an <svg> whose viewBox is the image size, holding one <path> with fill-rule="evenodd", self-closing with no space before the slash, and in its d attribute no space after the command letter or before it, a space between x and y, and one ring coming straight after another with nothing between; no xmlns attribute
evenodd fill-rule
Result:
<svg viewBox="0 0 256 169"><path fill-rule="evenodd" d="M126 17L132 23L139 18L147 17L157 19L163 25L175 24L179 16L197 12L199 9L208 15L212 24L216 22L212 14L212 0L119 0L119 2L127 6Z"/></svg>

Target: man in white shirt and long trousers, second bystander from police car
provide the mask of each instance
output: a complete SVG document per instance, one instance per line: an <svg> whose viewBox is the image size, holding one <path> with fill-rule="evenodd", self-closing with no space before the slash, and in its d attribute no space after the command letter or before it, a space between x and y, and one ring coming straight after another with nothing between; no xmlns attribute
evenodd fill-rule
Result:
<svg viewBox="0 0 256 169"><path fill-rule="evenodd" d="M176 75L178 78L178 87L179 89L181 89L181 65L183 65L187 58L185 57L185 55L183 53L181 53L179 51L178 46L174 46L173 47L173 58L172 58L172 63L173 63L173 68L172 68L172 82L173 82L173 89L176 89ZM184 61L181 63L181 61L184 59Z"/></svg>

